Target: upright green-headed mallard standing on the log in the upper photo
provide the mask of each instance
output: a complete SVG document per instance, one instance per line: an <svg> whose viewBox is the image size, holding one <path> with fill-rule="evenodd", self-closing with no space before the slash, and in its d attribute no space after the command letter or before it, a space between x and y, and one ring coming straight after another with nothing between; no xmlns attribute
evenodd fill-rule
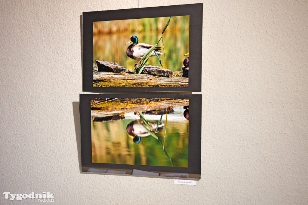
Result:
<svg viewBox="0 0 308 205"><path fill-rule="evenodd" d="M146 54L148 50L152 47L152 45L146 43L138 43L137 36L132 36L130 41L125 44L128 43L132 44L127 47L126 55L136 61L140 61L144 54ZM161 47L155 47L154 50L158 55L162 55L162 53L159 52L159 50L161 50ZM155 56L154 50L152 51L150 56Z"/></svg>

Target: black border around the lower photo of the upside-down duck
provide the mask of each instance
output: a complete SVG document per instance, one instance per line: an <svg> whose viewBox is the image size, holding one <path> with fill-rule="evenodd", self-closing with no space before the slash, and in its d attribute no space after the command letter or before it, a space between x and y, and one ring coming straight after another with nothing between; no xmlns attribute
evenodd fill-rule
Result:
<svg viewBox="0 0 308 205"><path fill-rule="evenodd" d="M89 168L112 169L116 171L124 170L126 175L134 175L134 171L138 170L139 172L135 173L140 173L140 171L153 172L152 176L156 177L163 172L170 173L168 176L172 177L180 177L181 174L186 174L187 178L201 178L201 94L80 94L79 97L82 171L88 171ZM188 98L189 114L191 116L188 126L188 167L92 163L91 98ZM172 175L174 173L177 174Z"/></svg>

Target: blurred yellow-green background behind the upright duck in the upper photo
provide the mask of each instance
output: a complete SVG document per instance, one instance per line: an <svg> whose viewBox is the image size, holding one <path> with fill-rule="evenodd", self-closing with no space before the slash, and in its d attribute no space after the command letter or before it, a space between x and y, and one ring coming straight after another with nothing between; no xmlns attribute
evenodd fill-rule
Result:
<svg viewBox="0 0 308 205"><path fill-rule="evenodd" d="M140 18L117 21L93 22L93 63L95 60L116 62L125 68L133 68L138 62L126 55L126 44L135 35L139 43L154 45L161 37L161 33L169 17ZM189 16L172 16L163 34L166 55L160 56L164 68L181 71L183 61L189 51ZM158 44L163 47L162 41ZM160 51L163 52L163 49ZM153 56L147 64L160 66L158 59ZM161 67L161 66L160 66Z"/></svg>

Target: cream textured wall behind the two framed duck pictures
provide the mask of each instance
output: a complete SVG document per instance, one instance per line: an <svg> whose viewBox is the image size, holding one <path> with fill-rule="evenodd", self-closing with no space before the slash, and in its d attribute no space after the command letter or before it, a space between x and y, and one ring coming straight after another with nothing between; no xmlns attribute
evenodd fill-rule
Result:
<svg viewBox="0 0 308 205"><path fill-rule="evenodd" d="M1 204L308 203L304 0L204 1L197 186L79 173L82 12L199 2L0 1Z"/></svg>

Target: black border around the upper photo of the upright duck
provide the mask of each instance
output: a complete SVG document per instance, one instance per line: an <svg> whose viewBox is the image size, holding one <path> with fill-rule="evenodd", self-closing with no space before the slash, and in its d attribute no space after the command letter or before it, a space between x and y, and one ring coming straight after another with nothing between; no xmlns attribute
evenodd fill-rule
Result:
<svg viewBox="0 0 308 205"><path fill-rule="evenodd" d="M159 11L159 12L157 12ZM203 3L123 10L83 12L84 91L201 91ZM189 15L188 87L93 87L93 22Z"/></svg>

